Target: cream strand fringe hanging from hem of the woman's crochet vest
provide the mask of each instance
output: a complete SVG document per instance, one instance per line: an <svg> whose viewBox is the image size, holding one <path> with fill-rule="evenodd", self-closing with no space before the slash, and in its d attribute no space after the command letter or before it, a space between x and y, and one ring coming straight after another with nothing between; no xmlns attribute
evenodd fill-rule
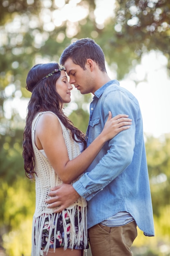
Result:
<svg viewBox="0 0 170 256"><path fill-rule="evenodd" d="M81 216L82 219L81 221L79 221L79 211L77 211L78 214L78 234L76 235L75 233L75 223L74 223L74 219L75 219L75 211L76 211L76 207L75 206L72 211L67 210L67 214L70 218L70 225L71 225L71 229L70 229L70 245L68 247L68 240L67 240L67 225L66 225L66 219L64 218L64 211L62 211L62 217L63 217L63 227L64 227L64 250L66 249L73 249L74 245L79 246L80 242L82 240L82 237L84 238L84 246L86 248L86 245L88 243L88 239L87 239L87 220L86 220L86 216L87 216L87 207L80 207L81 209ZM44 253L48 253L49 251L49 247L50 247L50 237L51 237L51 233L52 230L54 228L54 234L57 234L56 229L57 229L57 223L55 222L55 227L53 225L54 220L57 220L59 213L53 213L53 214L48 214L45 213L43 215L41 215L39 217L39 221L38 218L33 217L33 228L32 228L32 251L31 251L31 256L43 256ZM47 229L49 229L49 239L46 243L46 247L42 250L41 248L41 244L42 244L42 231L43 231L43 227L44 227L44 222L46 217L49 217L49 226L46 227ZM34 233L35 232L35 233ZM54 239L54 252L55 252L55 239Z"/></svg>

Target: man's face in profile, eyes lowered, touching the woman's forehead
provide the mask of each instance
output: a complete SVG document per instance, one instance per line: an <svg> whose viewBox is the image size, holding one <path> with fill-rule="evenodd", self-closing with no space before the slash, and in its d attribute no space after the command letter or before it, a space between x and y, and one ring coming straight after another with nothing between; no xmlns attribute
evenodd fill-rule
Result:
<svg viewBox="0 0 170 256"><path fill-rule="evenodd" d="M83 70L82 67L73 63L71 58L68 58L64 67L70 77L69 83L73 84L81 94L95 92L92 72L87 64L85 65L86 70Z"/></svg>

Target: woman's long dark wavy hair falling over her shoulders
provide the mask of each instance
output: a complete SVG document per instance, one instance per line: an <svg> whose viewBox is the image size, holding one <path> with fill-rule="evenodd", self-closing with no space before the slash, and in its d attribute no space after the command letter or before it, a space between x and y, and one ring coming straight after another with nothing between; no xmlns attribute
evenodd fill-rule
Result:
<svg viewBox="0 0 170 256"><path fill-rule="evenodd" d="M61 102L63 103L62 98L56 92L55 83L60 77L61 72L55 72L52 76L42 79L56 69L60 69L58 63L37 64L31 68L26 78L26 89L32 92L32 95L27 107L22 156L24 158L26 176L30 179L33 179L36 174L34 170L35 157L31 138L31 125L35 115L39 112L51 111L55 113L64 126L71 131L72 138L77 141L75 139L76 135L78 141L82 141L84 148L86 148L85 134L75 128L71 120L66 117L61 107Z"/></svg>

